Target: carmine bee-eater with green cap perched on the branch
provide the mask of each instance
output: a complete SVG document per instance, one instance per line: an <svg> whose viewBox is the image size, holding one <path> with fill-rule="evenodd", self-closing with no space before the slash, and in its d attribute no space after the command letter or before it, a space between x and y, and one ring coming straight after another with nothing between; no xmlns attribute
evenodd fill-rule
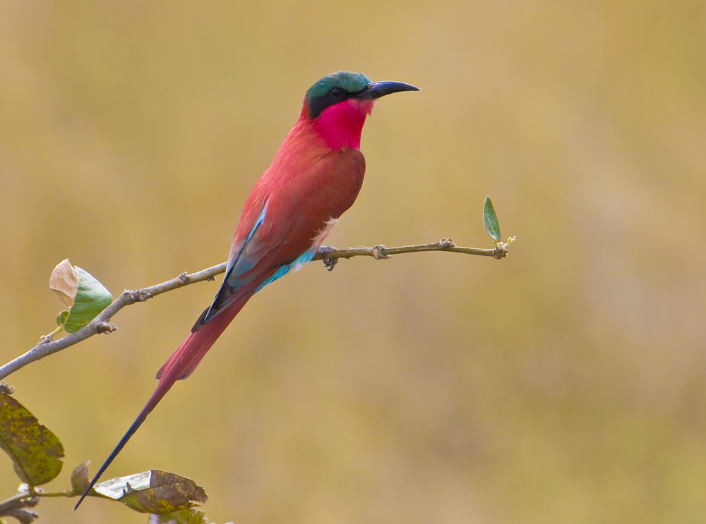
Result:
<svg viewBox="0 0 706 524"><path fill-rule="evenodd" d="M400 91L419 89L402 82L371 82L345 71L309 88L299 120L245 201L213 304L157 372L157 389L74 509L174 382L196 369L249 298L313 258L363 183L360 135L366 116L376 99Z"/></svg>

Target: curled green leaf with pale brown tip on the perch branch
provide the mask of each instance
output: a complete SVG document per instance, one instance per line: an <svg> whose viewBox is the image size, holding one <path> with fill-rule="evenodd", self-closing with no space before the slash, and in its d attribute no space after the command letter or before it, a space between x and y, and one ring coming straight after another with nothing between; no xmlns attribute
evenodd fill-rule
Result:
<svg viewBox="0 0 706 524"><path fill-rule="evenodd" d="M68 258L54 268L49 287L66 306L66 311L56 317L56 323L68 333L84 327L113 300L103 284L85 269L71 264Z"/></svg>

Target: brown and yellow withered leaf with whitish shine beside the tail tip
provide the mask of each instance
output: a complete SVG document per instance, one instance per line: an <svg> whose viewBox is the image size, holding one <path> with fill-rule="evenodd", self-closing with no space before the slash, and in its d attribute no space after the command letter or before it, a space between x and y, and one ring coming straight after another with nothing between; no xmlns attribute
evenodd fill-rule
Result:
<svg viewBox="0 0 706 524"><path fill-rule="evenodd" d="M122 502L135 511L166 515L208 499L203 487L176 473L151 470L95 485L98 496Z"/></svg>

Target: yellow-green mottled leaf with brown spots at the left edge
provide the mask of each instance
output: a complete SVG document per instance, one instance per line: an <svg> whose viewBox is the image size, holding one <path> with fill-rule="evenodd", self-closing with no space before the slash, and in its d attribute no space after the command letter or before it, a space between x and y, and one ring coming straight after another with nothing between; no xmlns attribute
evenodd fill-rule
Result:
<svg viewBox="0 0 706 524"><path fill-rule="evenodd" d="M61 473L64 446L6 392L0 392L0 448L12 458L22 482L40 486Z"/></svg>

